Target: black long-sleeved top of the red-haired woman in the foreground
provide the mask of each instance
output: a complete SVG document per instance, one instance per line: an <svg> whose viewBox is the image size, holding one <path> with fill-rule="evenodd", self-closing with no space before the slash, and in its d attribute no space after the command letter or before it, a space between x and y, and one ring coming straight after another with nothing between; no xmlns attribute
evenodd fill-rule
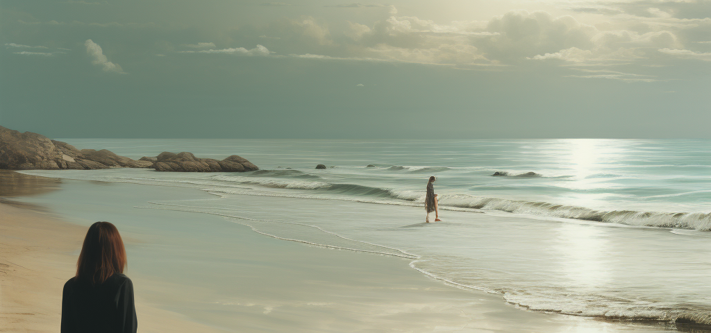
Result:
<svg viewBox="0 0 711 333"><path fill-rule="evenodd" d="M62 333L135 333L133 283L116 273L104 283L70 278L62 296Z"/></svg>

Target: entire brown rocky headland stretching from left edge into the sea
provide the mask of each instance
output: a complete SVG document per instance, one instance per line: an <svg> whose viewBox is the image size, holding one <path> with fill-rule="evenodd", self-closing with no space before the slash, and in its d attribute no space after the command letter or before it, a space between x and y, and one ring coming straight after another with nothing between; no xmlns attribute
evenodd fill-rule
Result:
<svg viewBox="0 0 711 333"><path fill-rule="evenodd" d="M156 171L244 172L259 170L245 158L232 155L224 160L196 158L192 153L164 152L157 157L133 160L102 149L79 150L38 133L14 131L0 126L0 169L4 170L95 170L107 168L153 168Z"/></svg>

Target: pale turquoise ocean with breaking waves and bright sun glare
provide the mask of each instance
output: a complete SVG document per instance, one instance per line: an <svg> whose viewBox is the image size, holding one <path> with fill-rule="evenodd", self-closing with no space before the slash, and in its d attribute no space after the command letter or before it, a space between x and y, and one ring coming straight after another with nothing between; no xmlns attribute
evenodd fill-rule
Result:
<svg viewBox="0 0 711 333"><path fill-rule="evenodd" d="M711 324L710 140L61 140L130 158L237 154L260 170L23 173L202 190L212 196L134 208L406 258L523 310ZM425 224L431 175L442 222Z"/></svg>

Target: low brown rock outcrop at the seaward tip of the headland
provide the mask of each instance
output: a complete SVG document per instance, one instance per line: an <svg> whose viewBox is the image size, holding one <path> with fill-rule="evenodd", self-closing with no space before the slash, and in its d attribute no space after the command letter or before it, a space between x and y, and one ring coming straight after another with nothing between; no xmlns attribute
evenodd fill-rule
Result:
<svg viewBox="0 0 711 333"><path fill-rule="evenodd" d="M151 165L156 171L193 172L193 173L241 173L259 170L257 165L250 163L245 158L232 155L224 160L213 158L196 158L193 153L171 153L164 151L156 157L156 163Z"/></svg>

